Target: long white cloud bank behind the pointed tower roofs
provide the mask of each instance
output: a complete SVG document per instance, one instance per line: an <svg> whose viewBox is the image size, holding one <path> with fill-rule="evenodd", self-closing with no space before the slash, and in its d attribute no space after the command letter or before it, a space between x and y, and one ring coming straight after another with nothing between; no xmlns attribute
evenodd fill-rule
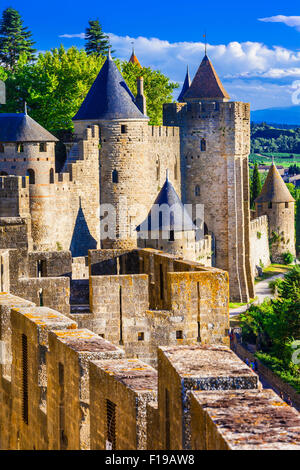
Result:
<svg viewBox="0 0 300 470"><path fill-rule="evenodd" d="M82 33L83 34L83 33ZM63 35L82 38L82 34ZM144 66L161 70L182 85L186 65L191 77L204 55L202 42L174 42L158 38L118 36L107 33L115 56L128 60L134 42ZM300 52L260 42L208 44L208 55L232 99L251 102L252 109L291 105L291 85L300 77ZM174 96L177 97L179 91Z"/></svg>

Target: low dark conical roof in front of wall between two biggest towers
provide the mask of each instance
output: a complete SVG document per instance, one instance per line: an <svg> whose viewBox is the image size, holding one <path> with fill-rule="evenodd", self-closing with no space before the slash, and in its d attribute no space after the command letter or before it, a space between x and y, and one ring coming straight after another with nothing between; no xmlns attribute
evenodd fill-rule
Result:
<svg viewBox="0 0 300 470"><path fill-rule="evenodd" d="M173 207L170 218L159 216L160 211L163 211L161 207L163 205ZM151 230L154 232L158 230L174 230L175 232L197 230L168 177L155 199L148 217L136 228L137 232Z"/></svg>

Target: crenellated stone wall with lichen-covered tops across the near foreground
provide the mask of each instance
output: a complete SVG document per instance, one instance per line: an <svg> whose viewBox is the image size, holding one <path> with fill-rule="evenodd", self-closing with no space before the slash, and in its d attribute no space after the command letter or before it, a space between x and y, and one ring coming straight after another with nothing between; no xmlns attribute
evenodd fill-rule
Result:
<svg viewBox="0 0 300 470"><path fill-rule="evenodd" d="M299 413L224 346L159 348L156 371L9 294L0 325L2 350L11 344L0 364L2 450L300 448Z"/></svg>

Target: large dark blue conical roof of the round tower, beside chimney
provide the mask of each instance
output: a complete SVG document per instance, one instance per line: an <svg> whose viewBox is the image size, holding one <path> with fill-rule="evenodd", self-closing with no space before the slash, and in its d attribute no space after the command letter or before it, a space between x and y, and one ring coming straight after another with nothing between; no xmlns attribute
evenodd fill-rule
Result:
<svg viewBox="0 0 300 470"><path fill-rule="evenodd" d="M74 121L147 119L109 53Z"/></svg>

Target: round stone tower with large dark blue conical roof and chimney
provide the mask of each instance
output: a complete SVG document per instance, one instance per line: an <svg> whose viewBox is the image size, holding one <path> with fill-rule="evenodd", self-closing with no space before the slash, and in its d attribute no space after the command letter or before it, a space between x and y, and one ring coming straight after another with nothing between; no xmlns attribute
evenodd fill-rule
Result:
<svg viewBox="0 0 300 470"><path fill-rule="evenodd" d="M103 248L135 247L135 228L146 216L140 205L147 209L153 202L148 121L109 54L74 117L77 137L86 127L99 126ZM113 225L110 207L116 211L115 234L107 232Z"/></svg>

